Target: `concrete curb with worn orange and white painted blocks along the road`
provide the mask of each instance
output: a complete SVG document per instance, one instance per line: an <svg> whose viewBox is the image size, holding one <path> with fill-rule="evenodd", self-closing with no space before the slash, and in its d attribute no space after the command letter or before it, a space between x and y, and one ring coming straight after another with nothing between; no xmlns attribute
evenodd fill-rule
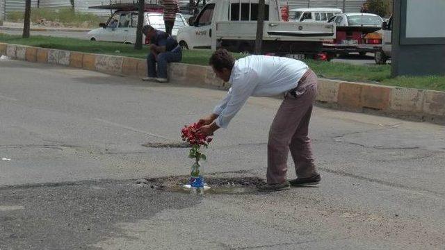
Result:
<svg viewBox="0 0 445 250"><path fill-rule="evenodd" d="M54 63L120 76L145 76L145 60L75 51L43 49L0 43L0 54L17 60ZM227 90L211 67L171 63L169 77L181 85ZM353 111L372 110L383 115L416 117L422 121L445 123L445 92L319 79L316 101Z"/></svg>

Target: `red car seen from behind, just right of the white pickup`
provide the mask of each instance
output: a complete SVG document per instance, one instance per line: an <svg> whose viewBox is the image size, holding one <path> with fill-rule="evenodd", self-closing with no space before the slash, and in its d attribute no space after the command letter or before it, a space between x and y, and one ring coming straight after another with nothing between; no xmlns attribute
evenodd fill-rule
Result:
<svg viewBox="0 0 445 250"><path fill-rule="evenodd" d="M336 38L323 43L323 51L332 58L337 54L380 51L382 48L382 17L371 13L334 15L328 23L336 24Z"/></svg>

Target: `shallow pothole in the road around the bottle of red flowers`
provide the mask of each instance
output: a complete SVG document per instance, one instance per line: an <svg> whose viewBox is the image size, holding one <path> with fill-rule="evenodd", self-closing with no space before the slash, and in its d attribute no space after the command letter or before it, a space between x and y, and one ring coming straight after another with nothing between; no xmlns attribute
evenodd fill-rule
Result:
<svg viewBox="0 0 445 250"><path fill-rule="evenodd" d="M161 191L168 192L184 192L182 186L188 184L189 176L171 176L164 178L149 178L139 180L140 185L147 185ZM257 186L264 183L264 180L258 177L227 177L227 176L204 176L204 181L211 187L210 190L205 191L205 194L244 194L250 192L257 192Z"/></svg>

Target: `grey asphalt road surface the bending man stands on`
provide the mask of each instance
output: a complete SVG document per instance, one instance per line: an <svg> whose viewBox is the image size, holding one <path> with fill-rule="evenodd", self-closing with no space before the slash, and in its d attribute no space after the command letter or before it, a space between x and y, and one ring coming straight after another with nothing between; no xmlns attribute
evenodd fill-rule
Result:
<svg viewBox="0 0 445 250"><path fill-rule="evenodd" d="M188 149L143 144L177 144L224 95L0 61L0 249L444 249L435 124L315 108L316 188L193 197L137 184L188 174ZM204 175L264 178L278 106L251 98L216 132Z"/></svg>

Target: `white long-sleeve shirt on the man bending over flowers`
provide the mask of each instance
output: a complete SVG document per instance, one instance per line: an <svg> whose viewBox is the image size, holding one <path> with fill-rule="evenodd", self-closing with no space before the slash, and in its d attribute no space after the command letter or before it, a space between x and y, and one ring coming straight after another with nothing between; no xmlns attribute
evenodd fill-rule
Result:
<svg viewBox="0 0 445 250"><path fill-rule="evenodd" d="M300 60L276 56L247 56L236 60L229 79L232 88L213 109L218 115L216 125L227 128L250 96L276 96L296 88L307 69Z"/></svg>

